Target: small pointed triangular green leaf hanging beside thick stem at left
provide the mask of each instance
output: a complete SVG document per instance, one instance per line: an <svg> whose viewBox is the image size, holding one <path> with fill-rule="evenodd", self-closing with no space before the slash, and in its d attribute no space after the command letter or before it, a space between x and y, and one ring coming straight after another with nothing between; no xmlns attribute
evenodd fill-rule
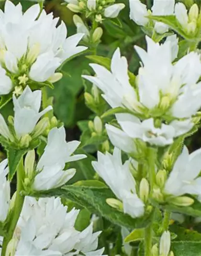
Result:
<svg viewBox="0 0 201 256"><path fill-rule="evenodd" d="M26 154L28 149L13 149L9 148L7 151L9 175L8 178L11 181L20 163L21 158Z"/></svg>

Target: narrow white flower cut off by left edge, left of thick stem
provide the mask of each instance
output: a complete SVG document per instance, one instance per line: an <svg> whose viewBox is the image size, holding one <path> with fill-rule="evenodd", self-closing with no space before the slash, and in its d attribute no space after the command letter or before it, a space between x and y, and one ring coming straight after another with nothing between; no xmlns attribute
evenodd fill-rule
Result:
<svg viewBox="0 0 201 256"><path fill-rule="evenodd" d="M6 180L8 160L0 163L0 221L5 221L10 205L10 183Z"/></svg>

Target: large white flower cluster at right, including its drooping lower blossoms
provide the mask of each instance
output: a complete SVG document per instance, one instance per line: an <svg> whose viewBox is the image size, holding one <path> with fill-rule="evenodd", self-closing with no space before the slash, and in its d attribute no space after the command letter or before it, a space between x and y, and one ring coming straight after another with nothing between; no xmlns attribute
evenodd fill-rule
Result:
<svg viewBox="0 0 201 256"><path fill-rule="evenodd" d="M149 37L146 41L147 52L135 46L143 62L135 85L130 83L128 64L119 49L113 54L111 72L90 64L96 76L83 76L103 91L103 98L112 108L133 112L116 115L123 131L106 125L112 144L128 153L134 150L135 138L156 146L172 144L174 137L190 131L192 116L201 107L201 84L197 83L201 75L200 55L190 52L172 64L179 49L175 35L161 45ZM158 126L156 119L160 120Z"/></svg>

